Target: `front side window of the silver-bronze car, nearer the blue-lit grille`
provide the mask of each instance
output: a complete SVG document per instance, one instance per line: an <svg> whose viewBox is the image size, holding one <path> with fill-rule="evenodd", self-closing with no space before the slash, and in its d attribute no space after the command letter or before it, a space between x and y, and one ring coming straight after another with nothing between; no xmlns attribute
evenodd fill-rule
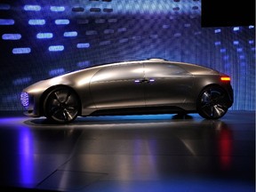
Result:
<svg viewBox="0 0 256 192"><path fill-rule="evenodd" d="M123 81L137 79L144 75L143 64L120 64L101 68L93 77L93 82Z"/></svg>

